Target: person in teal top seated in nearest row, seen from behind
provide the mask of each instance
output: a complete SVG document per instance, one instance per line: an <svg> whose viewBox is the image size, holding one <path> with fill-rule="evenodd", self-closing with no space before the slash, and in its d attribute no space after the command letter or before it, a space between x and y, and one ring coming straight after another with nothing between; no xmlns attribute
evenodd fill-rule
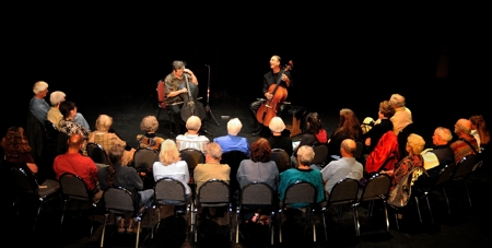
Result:
<svg viewBox="0 0 492 248"><path fill-rule="evenodd" d="M285 190L290 185L296 181L306 181L312 184L317 190L316 201L320 203L325 200L325 189L323 185L321 173L317 169L309 168L312 161L314 158L314 150L312 146L303 145L297 151L297 168L290 168L280 174L279 182L279 199L283 201L285 198ZM291 204L292 208L306 208L306 203L295 203Z"/></svg>

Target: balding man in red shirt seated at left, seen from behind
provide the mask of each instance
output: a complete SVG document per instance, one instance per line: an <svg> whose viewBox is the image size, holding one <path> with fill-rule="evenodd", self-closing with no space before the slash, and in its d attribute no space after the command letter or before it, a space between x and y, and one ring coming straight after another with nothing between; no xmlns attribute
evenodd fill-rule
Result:
<svg viewBox="0 0 492 248"><path fill-rule="evenodd" d="M66 154L55 157L52 168L57 180L66 173L74 174L81 177L87 189L93 193L94 201L98 201L103 197L103 191L98 187L97 166L89 156L80 154L80 150L84 143L84 138L75 133L68 140L68 151Z"/></svg>

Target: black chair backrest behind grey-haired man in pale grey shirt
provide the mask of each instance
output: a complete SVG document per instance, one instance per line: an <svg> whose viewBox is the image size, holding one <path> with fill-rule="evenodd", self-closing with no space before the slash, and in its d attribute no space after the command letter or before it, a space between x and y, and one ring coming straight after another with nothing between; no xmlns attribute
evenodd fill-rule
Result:
<svg viewBox="0 0 492 248"><path fill-rule="evenodd" d="M329 204L344 204L356 201L359 196L359 181L345 178L337 182L328 196Z"/></svg>

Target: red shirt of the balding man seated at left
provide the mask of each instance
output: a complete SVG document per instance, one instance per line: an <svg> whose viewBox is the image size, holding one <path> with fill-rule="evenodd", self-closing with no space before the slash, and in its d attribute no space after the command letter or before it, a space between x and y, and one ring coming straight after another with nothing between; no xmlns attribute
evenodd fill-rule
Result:
<svg viewBox="0 0 492 248"><path fill-rule="evenodd" d="M89 156L83 156L80 153L66 153L55 157L52 169L57 179L65 173L72 173L81 177L89 190L93 190L97 182L97 166Z"/></svg>

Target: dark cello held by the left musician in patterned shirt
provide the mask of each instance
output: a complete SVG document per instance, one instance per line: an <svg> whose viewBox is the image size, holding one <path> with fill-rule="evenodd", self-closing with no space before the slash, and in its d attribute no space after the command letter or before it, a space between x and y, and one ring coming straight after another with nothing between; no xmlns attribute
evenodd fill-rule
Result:
<svg viewBox="0 0 492 248"><path fill-rule="evenodd" d="M181 107L181 119L186 122L190 116L197 116L201 120L206 117L207 113L201 104L197 102L198 86L195 83L188 82L188 76L184 74L186 81L186 88L188 90L188 95L181 94L183 107ZM185 85L179 85L179 88L185 87Z"/></svg>

